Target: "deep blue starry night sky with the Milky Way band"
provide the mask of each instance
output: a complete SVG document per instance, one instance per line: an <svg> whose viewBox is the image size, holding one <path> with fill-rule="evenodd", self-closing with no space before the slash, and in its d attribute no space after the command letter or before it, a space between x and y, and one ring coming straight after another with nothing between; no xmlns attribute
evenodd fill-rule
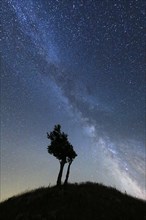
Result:
<svg viewBox="0 0 146 220"><path fill-rule="evenodd" d="M58 123L78 154L70 182L146 199L145 6L2 0L2 200L56 183Z"/></svg>

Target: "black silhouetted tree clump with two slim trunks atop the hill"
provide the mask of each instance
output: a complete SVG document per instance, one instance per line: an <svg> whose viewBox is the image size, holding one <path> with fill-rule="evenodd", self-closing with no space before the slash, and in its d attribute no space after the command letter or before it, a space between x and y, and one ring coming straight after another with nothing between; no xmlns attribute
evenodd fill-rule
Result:
<svg viewBox="0 0 146 220"><path fill-rule="evenodd" d="M48 146L48 153L53 154L53 156L55 156L60 162L57 186L61 185L61 178L65 163L69 163L66 179L64 182L64 184L67 184L70 173L70 166L77 154L73 150L73 146L68 141L67 134L61 132L61 125L55 125L54 130L50 133L47 133L47 137L51 140L51 144Z"/></svg>

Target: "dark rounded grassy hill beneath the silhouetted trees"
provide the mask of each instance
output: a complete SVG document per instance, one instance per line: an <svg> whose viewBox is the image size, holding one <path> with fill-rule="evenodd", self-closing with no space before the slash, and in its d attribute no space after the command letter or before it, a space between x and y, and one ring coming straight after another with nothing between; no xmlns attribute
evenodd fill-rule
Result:
<svg viewBox="0 0 146 220"><path fill-rule="evenodd" d="M97 183L39 188L0 203L1 220L146 220L146 202Z"/></svg>

